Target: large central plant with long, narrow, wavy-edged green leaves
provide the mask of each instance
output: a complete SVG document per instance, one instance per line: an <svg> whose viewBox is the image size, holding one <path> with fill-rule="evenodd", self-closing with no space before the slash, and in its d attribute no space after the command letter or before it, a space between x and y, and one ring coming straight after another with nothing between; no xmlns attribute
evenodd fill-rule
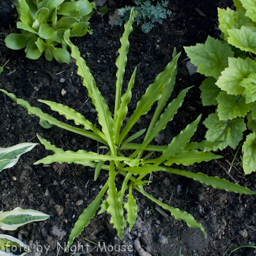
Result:
<svg viewBox="0 0 256 256"><path fill-rule="evenodd" d="M169 145L159 146L150 144L157 134L165 129L168 122L172 121L173 116L177 113L178 109L182 105L186 93L190 89L186 88L182 90L177 98L173 99L166 106L166 102L170 98L175 84L177 60L180 53L176 54L176 51L173 51L173 60L170 61L164 71L156 77L154 83L148 86L145 94L138 101L137 107L130 116L129 121L127 124L124 124L128 110L127 105L132 97L132 87L134 86L134 79L136 76L135 68L125 90L126 92L122 95L122 83L129 49L128 38L132 31L133 18L134 12L132 10L131 17L125 24L124 35L120 38L121 47L118 50L119 56L116 58L116 95L113 116L111 115L104 98L99 92L99 89L96 87L93 76L90 73L90 69L87 67L83 58L81 58L78 48L69 40L70 31L65 32L65 42L70 47L71 56L76 60L77 74L79 74L83 79L83 85L86 86L88 90L88 96L92 99L95 109L97 109L101 131L89 120L86 120L83 115L74 109L68 108L67 106L47 100L39 100L40 102L50 106L53 111L57 111L60 115L64 115L67 120L73 120L76 125L81 125L81 127L75 127L60 122L51 115L42 112L40 108L31 107L25 100L17 99L12 93L1 90L15 100L17 104L20 104L27 109L29 114L36 115L40 120L45 120L51 125L56 125L66 129L67 131L76 132L77 134L91 138L92 140L101 143L102 146L100 147L107 148L106 154L86 152L85 150L78 150L77 152L73 152L71 150L65 151L62 148L55 147L49 141L38 136L38 139L45 148L51 150L54 154L36 161L35 164L51 164L54 162L82 164L83 166L95 168L95 180L99 176L100 171L104 170L108 172L108 180L106 180L106 183L100 190L99 194L93 202L86 207L74 225L68 239L67 246L70 246L74 238L79 236L83 231L83 228L90 223L90 219L95 216L102 197L105 194L107 198L103 200L98 214L106 211L111 215L110 223L114 225L114 228L116 228L118 232L118 236L122 239L126 222L129 223L129 230L131 231L136 219L137 206L136 200L133 196L134 189L163 207L166 211L169 211L177 220L186 221L189 227L200 228L206 236L204 227L200 223L196 222L191 214L160 202L144 190L143 187L148 184L148 182L151 182L148 180L148 176L153 172L175 173L177 175L197 180L214 188L234 191L236 193L245 193L250 195L255 194L248 188L243 188L238 184L232 184L228 182L228 180L220 179L219 177L207 177L204 173L193 173L186 170L168 167L173 163L190 165L221 157L216 156L211 152L203 152L201 150L204 150L205 147L218 145L222 141L210 142L205 140L199 143L189 142L196 131L196 127L200 122L201 116L198 116L195 121L188 124L180 134L173 138ZM130 131L134 124L136 124L140 119L140 116L145 115L151 109L154 102L157 102L157 108L148 128L142 129L135 134L131 134ZM124 128L122 128L123 126ZM133 140L142 136L144 132L145 136L143 143L132 143ZM144 154L144 152L147 153ZM155 154L153 154L153 152L155 152ZM120 187L116 186L115 183L117 175L123 177L122 186ZM124 204L126 201L125 196L127 197L127 202ZM126 219L124 209L126 210Z"/></svg>

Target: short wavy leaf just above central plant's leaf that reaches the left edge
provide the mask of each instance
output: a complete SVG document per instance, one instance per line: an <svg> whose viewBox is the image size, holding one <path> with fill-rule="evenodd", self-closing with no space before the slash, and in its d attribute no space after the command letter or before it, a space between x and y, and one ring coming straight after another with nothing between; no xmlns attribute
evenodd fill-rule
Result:
<svg viewBox="0 0 256 256"><path fill-rule="evenodd" d="M52 102L49 100L38 100L39 102L42 102L49 106L53 111L57 111L60 115L65 115L65 118L67 120L73 120L76 125L83 125L84 129L86 130L92 130L96 134L98 134L103 140L106 140L106 137L102 132L99 131L94 125L84 118L83 115L78 113L76 110L72 108L68 108L68 106L65 106L60 103Z"/></svg>

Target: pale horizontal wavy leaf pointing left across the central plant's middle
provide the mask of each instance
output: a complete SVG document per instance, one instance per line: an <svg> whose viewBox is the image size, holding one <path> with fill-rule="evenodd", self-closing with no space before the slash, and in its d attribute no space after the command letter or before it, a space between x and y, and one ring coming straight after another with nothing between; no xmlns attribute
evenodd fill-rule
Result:
<svg viewBox="0 0 256 256"><path fill-rule="evenodd" d="M100 155L95 152L86 152L84 150L78 150L77 152L74 152L72 150L67 150L64 152L58 152L54 155L44 157L43 159L40 159L36 161L34 164L51 164L54 162L58 163L76 163L76 161L95 161L99 162L100 160L102 161L127 161L127 163L132 163L134 159L129 158L129 157L118 157L118 156L105 156L105 155Z"/></svg>

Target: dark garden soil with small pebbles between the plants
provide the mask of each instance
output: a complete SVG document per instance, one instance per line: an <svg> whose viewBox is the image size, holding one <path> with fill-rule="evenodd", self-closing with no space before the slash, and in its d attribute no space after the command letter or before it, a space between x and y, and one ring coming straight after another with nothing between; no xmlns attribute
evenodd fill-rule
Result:
<svg viewBox="0 0 256 256"><path fill-rule="evenodd" d="M125 4L131 3L120 0L115 7L109 6L109 13L104 17L94 15L90 20L93 35L86 35L73 41L88 63L97 86L112 113L113 102L115 102L115 58L120 47L119 38L124 28L119 26L111 28L108 24L108 15L112 14L116 7L120 8ZM148 35L141 33L140 29L134 29L132 32L125 84L129 81L136 66L138 72L128 116L131 116L137 100L143 95L147 86L172 59L173 47L177 47L177 51L181 51L182 54L179 59L177 83L172 99L182 89L194 85L187 93L184 104L173 122L164 132L161 132L159 140L154 143L166 145L200 113L204 120L209 113L214 111L214 108L202 106L199 86L204 77L199 74L189 76L186 68L188 59L183 46L195 45L196 42L203 43L208 35L217 38L220 34L220 31L216 29L218 27L217 7L227 8L227 6L232 7L232 1L171 0L168 8L173 14L164 20L163 25L156 26ZM9 62L1 74L0 88L15 93L17 97L28 100L31 106L40 107L60 120L64 121L63 116L53 113L37 99L60 102L76 109L91 122L97 122L94 106L88 99L81 79L76 74L74 60L69 65L57 63L55 60L48 62L44 58L29 60L25 57L23 49L12 51L4 45L4 38L10 33L10 29L16 31L16 18L15 8L10 1L1 0L0 65L3 66L8 60ZM60 79L64 82L61 83ZM65 95L61 95L63 89L67 91ZM65 150L84 149L97 152L97 144L94 141L58 127L44 129L38 124L38 118L29 115L26 110L3 93L0 94L0 100L0 147L10 147L28 141L38 142L36 138L36 133L38 133L52 144ZM147 127L152 113L154 112L150 111L142 116L132 132ZM72 122L69 121L68 124ZM200 122L198 131L192 140L204 140L205 131L204 125ZM218 153L223 158L217 161L203 162L189 167L175 167L212 176L218 175L231 182L233 177L242 186L255 191L256 175L245 176L241 166L237 166L237 170L231 169L231 177L227 175L230 167L227 161L232 161L235 151L228 148ZM104 171L100 172L95 182L91 168L66 164L61 172L61 170L56 170L55 166L53 168L42 164L33 165L35 161L48 154L51 152L45 150L42 145L38 145L31 152L20 157L19 162L13 168L0 173L0 210L10 211L19 206L51 215L47 221L30 223L13 232L0 230L1 234L9 234L28 244L33 251L28 255L65 255L63 247L67 243L74 223L86 206L97 196L108 174ZM116 179L116 184L120 186L122 180ZM115 246L118 250L118 245L124 245L125 247L122 248L132 250L132 252L125 252L126 255L136 256L176 256L179 255L180 246L182 246L182 255L222 256L228 248L230 248L228 252L231 252L237 246L255 245L255 196L228 193L169 173L156 173L153 176L153 182L145 186L145 191L163 200L165 204L179 207L192 214L204 226L207 239L200 230L189 228L183 221L176 221L170 212L164 212L156 204L134 191L138 204L138 216L131 234L128 233L128 228L125 228L124 239L120 241L113 225L109 224L109 215L104 212L95 216L90 225L84 228L81 236L75 239L76 246L79 243L84 245L84 252L80 250L74 255L86 253L86 244L88 252L90 251L87 255L122 255L121 252L109 251L113 248L111 246ZM95 245L84 239L100 243L101 246L105 243L107 252L100 252L100 250L97 252ZM139 250L139 245L141 250ZM36 249L42 250L36 252ZM67 255L72 255L72 250ZM255 254L256 251L251 248L244 248L233 253L233 255L248 256Z"/></svg>

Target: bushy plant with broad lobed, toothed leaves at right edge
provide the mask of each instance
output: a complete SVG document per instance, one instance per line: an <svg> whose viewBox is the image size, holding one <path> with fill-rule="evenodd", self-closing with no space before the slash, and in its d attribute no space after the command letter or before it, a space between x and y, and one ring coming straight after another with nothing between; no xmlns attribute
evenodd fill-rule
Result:
<svg viewBox="0 0 256 256"><path fill-rule="evenodd" d="M184 47L197 72L204 74L200 89L204 106L217 106L203 124L208 141L225 142L209 150L235 149L243 140L243 170L256 172L256 3L234 0L236 11L218 8L221 39L208 36L205 44Z"/></svg>

